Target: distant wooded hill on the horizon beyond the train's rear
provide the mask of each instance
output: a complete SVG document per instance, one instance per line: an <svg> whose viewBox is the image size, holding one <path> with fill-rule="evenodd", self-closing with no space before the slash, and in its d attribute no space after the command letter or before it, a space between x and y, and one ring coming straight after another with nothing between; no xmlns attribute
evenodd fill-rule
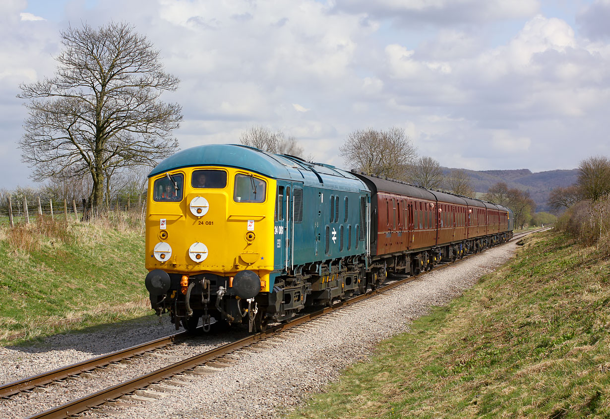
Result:
<svg viewBox="0 0 610 419"><path fill-rule="evenodd" d="M453 168L444 168L447 175ZM517 170L467 170L472 178L475 192L486 193L489 187L498 182L506 182L509 188L529 191L529 196L536 202L536 212L548 211L548 193L556 187L568 187L576 182L578 170L549 170L532 173L529 169Z"/></svg>

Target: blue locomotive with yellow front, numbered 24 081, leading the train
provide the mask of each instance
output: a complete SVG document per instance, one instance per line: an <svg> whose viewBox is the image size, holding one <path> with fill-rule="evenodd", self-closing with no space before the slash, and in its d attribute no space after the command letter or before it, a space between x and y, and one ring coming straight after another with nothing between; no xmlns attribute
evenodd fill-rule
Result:
<svg viewBox="0 0 610 419"><path fill-rule="evenodd" d="M149 174L146 288L178 329L203 318L264 329L364 290L364 182L239 145L204 145Z"/></svg>

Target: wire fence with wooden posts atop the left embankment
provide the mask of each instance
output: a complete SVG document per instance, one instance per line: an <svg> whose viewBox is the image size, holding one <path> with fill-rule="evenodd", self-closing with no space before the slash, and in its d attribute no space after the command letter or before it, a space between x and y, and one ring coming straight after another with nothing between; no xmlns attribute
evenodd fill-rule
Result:
<svg viewBox="0 0 610 419"><path fill-rule="evenodd" d="M66 199L7 198L0 203L0 226L14 227L18 224L29 224L41 217L51 217L65 221L82 221L103 213L146 212L145 196L114 198L104 201L93 210L87 206L85 199L80 201Z"/></svg>

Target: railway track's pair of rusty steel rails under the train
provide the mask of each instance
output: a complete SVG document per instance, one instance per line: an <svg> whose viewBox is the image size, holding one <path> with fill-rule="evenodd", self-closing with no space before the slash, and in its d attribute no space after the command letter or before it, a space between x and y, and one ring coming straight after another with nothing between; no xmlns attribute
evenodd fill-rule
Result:
<svg viewBox="0 0 610 419"><path fill-rule="evenodd" d="M537 229L534 231L528 231L522 234L517 234L511 239L511 241L519 240L525 235L537 231L543 231L546 229L548 229L548 227L545 229ZM471 254L465 256L461 260L468 259L472 256L475 255ZM451 266L451 262L438 265L437 267L432 268L432 270L442 269L448 266ZM76 399L74 401L71 401L70 403L62 404L61 406L46 410L45 412L41 412L40 414L30 416L29 419L68 418L73 415L84 412L85 410L91 409L92 407L101 406L104 403L115 401L121 396L128 395L130 393L135 392L136 390L148 387L148 385L171 378L173 376L176 376L176 374L193 370L202 365L227 365L227 359L223 357L236 351L237 349L248 348L249 346L252 346L261 340L265 340L266 338L272 335L276 335L281 331L286 331L290 328L294 328L295 326L306 323L307 321L310 321L314 318L318 318L334 310L357 303L362 299L379 295L380 293L384 293L387 290L397 287L398 285L405 284L406 282L415 281L418 279L418 276L409 276L407 278L397 279L396 281L393 281L387 285L383 285L382 287L379 287L376 290L370 290L365 294L355 296L346 301L341 301L336 304L333 304L332 307L326 307L325 309L320 309L315 312L307 313L306 315L295 318L292 321L289 321L288 323L282 323L276 326L272 326L265 332L249 335L234 342L218 346L217 348L173 363L172 365L168 365L167 367L152 371L151 373L139 376L134 379L130 379L121 384L113 385L112 387L109 387L107 389L100 390L99 392L95 392L83 398ZM34 389L35 387L40 387L42 385L49 384L53 381L77 376L78 374L81 374L83 372L104 367L112 363L120 362L121 360L129 359L131 357L137 356L138 354L148 353L150 351L154 351L156 349L163 348L165 346L184 340L184 338L189 335L190 334L188 334L188 332L181 332L179 334L170 335L165 338L146 342L142 345L132 346L131 348L123 349L121 351L110 353L105 356L100 356L91 360L69 365L68 367L58 368L57 370L52 370L47 373L39 374L37 376L32 376L20 381L5 384L0 386L0 397L9 398L10 396L15 395L17 393L29 391L31 389Z"/></svg>

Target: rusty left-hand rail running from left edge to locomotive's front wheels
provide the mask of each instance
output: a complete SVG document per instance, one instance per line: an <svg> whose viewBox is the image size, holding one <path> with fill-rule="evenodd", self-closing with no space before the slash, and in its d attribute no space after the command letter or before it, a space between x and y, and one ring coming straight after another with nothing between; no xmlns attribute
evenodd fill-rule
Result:
<svg viewBox="0 0 610 419"><path fill-rule="evenodd" d="M7 398L17 393L34 389L35 387L40 387L41 385L49 384L53 381L59 381L64 378L84 373L85 371L91 371L95 370L95 368L104 367L113 362L129 359L133 356L150 352L154 349L163 348L163 346L170 345L171 343L176 342L176 340L182 340L182 338L187 337L187 335L188 332L176 333L156 340L151 340L150 342L141 343L140 345L131 346L130 348L121 349L120 351L115 351L106 355L84 360L82 362L73 363L72 365L57 368L56 370L47 371L46 373L37 374L18 381L0 385L0 398Z"/></svg>

